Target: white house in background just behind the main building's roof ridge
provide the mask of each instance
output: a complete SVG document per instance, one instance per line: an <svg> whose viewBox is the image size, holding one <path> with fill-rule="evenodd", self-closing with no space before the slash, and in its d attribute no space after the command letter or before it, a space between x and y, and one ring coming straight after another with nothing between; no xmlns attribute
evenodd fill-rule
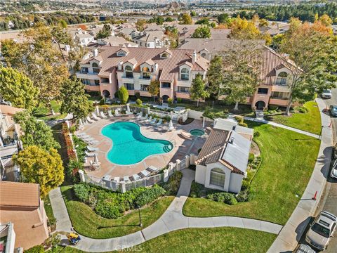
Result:
<svg viewBox="0 0 337 253"><path fill-rule="evenodd" d="M166 37L162 30L140 32L132 40L138 46L146 48L169 48L170 46L170 39Z"/></svg>

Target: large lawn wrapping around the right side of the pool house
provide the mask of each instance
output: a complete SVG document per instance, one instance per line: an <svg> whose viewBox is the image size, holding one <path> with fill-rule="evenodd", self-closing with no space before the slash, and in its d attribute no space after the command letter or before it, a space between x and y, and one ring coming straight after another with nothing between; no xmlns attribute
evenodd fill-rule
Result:
<svg viewBox="0 0 337 253"><path fill-rule="evenodd" d="M268 124L247 123L260 132L254 140L262 157L251 183L253 200L230 206L189 197L183 208L186 216L244 216L279 224L291 216L315 166L319 140Z"/></svg>

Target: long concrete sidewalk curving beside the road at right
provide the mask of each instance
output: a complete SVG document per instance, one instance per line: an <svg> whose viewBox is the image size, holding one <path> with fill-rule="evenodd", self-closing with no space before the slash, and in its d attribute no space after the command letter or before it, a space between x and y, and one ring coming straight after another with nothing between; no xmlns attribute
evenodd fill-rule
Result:
<svg viewBox="0 0 337 253"><path fill-rule="evenodd" d="M316 102L321 113L322 126L324 127L322 129L322 141L315 168L296 209L268 250L270 253L293 252L294 247L298 244L298 240L300 240L305 228L308 226L311 216L315 214L319 199L324 191L333 149L333 129L329 127L331 123L329 115L324 113L326 107L324 101L321 98L316 98ZM312 200L316 192L317 200Z"/></svg>

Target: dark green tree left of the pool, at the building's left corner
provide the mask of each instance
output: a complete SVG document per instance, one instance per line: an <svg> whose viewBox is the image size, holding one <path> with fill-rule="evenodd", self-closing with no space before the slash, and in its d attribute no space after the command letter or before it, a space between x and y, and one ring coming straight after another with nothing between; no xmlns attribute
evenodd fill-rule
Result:
<svg viewBox="0 0 337 253"><path fill-rule="evenodd" d="M90 112L93 112L93 103L88 100L89 96L85 93L84 84L79 79L67 79L60 92L62 101L60 111L62 113L72 113L74 119L81 119Z"/></svg>

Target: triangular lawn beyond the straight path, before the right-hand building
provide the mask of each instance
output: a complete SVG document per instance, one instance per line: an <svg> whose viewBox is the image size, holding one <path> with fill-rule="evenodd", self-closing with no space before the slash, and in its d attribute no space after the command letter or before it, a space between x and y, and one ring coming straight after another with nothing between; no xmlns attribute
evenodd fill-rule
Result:
<svg viewBox="0 0 337 253"><path fill-rule="evenodd" d="M309 131L312 134L319 134L321 131L321 117L319 114L317 103L315 101L310 101L305 103L303 106L308 109L308 112L295 112L291 116L266 116L265 118L279 124L284 124L286 126L291 126L296 129ZM296 108L294 109L296 111Z"/></svg>

